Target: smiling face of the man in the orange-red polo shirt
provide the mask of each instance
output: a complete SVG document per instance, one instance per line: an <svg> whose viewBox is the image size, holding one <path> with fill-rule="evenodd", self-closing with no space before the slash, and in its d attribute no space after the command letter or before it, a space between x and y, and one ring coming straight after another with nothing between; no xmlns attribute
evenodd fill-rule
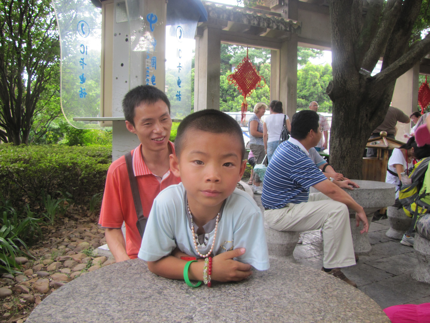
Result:
<svg viewBox="0 0 430 323"><path fill-rule="evenodd" d="M141 102L135 107L133 126L126 121L127 129L136 134L145 149L159 151L166 149L172 129L172 119L166 102L159 100L147 104Z"/></svg>

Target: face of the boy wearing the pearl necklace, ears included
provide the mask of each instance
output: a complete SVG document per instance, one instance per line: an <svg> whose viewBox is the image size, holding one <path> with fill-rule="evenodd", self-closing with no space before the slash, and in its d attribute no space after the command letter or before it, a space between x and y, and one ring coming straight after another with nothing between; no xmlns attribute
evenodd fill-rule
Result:
<svg viewBox="0 0 430 323"><path fill-rule="evenodd" d="M170 168L181 177L192 210L219 211L224 199L233 193L246 168L240 145L240 140L230 134L187 131L179 160L170 155Z"/></svg>

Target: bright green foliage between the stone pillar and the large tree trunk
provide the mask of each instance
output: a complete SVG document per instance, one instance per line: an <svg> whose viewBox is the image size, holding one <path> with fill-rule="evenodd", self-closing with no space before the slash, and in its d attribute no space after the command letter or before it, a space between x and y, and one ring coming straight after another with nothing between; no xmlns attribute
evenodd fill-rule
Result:
<svg viewBox="0 0 430 323"><path fill-rule="evenodd" d="M297 71L297 109L308 109L309 102L316 101L319 112L332 112L332 101L326 94L327 85L332 79L332 66L307 62Z"/></svg>

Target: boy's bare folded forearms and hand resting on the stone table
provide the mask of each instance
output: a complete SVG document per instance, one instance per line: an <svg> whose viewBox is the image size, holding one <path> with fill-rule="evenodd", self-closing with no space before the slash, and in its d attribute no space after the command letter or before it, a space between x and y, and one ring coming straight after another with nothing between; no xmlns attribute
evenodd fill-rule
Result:
<svg viewBox="0 0 430 323"><path fill-rule="evenodd" d="M211 280L220 282L240 281L252 274L251 265L235 261L233 258L239 257L245 253L245 248L237 248L231 251L223 252L212 258L212 275ZM180 257L183 252L175 249L170 255L157 261L148 261L148 268L151 272L169 279L184 279L184 267L186 260ZM203 258L202 258L203 259ZM188 277L190 280L203 280L204 261L197 261L190 264Z"/></svg>

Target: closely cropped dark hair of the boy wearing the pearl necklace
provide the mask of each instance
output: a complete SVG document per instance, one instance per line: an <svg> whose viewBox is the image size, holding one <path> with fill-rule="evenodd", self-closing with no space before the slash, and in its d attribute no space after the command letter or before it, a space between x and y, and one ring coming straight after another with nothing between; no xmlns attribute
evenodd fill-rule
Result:
<svg viewBox="0 0 430 323"><path fill-rule="evenodd" d="M179 157L184 145L187 131L201 130L211 134L230 134L236 136L240 142L242 160L245 155L245 142L240 125L230 115L214 109L200 110L184 118L178 127L175 138L175 152Z"/></svg>

